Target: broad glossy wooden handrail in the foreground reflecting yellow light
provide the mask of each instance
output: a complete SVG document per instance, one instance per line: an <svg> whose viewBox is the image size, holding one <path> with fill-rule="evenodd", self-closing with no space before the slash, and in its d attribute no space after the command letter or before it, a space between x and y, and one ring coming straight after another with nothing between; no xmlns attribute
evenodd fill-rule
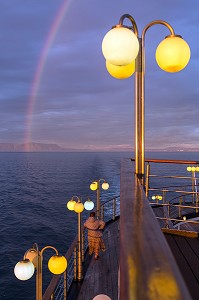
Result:
<svg viewBox="0 0 199 300"><path fill-rule="evenodd" d="M143 187L126 159L122 161L121 199L120 299L190 300Z"/></svg>

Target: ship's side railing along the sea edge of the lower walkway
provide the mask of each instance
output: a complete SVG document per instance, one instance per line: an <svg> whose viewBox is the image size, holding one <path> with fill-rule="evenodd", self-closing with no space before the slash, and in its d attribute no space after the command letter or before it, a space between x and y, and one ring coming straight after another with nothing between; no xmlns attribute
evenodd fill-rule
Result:
<svg viewBox="0 0 199 300"><path fill-rule="evenodd" d="M105 222L114 221L115 218L120 215L120 196L115 196L101 203L100 212L101 218ZM88 247L86 230L84 229L82 229L82 241L82 262L84 262L84 256ZM72 282L77 281L77 236L66 252L65 257L68 262L66 271L61 275L53 276L43 295L43 300L66 300Z"/></svg>

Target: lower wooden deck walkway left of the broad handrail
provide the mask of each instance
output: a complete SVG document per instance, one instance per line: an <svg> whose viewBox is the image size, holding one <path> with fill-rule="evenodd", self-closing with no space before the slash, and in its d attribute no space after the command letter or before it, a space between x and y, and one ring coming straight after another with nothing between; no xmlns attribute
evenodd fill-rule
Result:
<svg viewBox="0 0 199 300"><path fill-rule="evenodd" d="M100 253L99 260L92 258L85 274L78 300L92 300L96 295L105 294L112 300L118 299L119 266L119 221L107 226L103 239L106 251Z"/></svg>

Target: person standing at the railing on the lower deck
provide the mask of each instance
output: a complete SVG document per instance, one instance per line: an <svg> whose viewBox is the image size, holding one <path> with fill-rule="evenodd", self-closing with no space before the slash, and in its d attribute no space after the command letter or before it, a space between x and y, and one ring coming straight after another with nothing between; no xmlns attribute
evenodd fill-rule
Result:
<svg viewBox="0 0 199 300"><path fill-rule="evenodd" d="M90 217L84 223L84 227L88 229L88 247L89 254L95 254L95 259L99 258L99 252L105 251L105 245L102 238L102 229L105 222L95 218L95 212L90 213Z"/></svg>

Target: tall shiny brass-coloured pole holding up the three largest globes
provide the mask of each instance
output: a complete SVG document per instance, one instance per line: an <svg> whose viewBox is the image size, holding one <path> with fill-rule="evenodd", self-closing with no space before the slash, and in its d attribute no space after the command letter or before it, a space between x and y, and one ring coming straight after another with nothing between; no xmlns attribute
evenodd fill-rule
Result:
<svg viewBox="0 0 199 300"><path fill-rule="evenodd" d="M144 185L144 46L141 38L139 43L140 50L135 66L135 173Z"/></svg>

